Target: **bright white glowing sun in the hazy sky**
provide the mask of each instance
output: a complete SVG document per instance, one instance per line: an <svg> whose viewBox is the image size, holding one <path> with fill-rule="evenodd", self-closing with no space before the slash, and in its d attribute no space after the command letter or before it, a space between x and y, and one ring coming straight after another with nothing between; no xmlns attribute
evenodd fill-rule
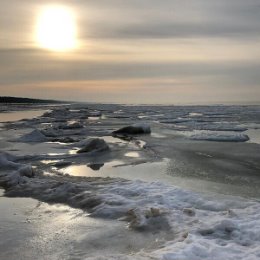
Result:
<svg viewBox="0 0 260 260"><path fill-rule="evenodd" d="M52 51L70 51L77 47L76 29L75 15L69 8L45 7L37 20L37 44Z"/></svg>

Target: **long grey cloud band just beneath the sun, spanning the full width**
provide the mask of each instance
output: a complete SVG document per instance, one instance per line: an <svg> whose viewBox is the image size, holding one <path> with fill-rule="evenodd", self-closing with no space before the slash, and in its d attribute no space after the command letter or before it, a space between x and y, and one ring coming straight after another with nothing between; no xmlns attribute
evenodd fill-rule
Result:
<svg viewBox="0 0 260 260"><path fill-rule="evenodd" d="M63 59L47 55L48 52L34 49L0 50L0 85L40 83L50 81L92 81L192 78L208 81L209 85L224 82L243 82L256 85L260 82L260 63L255 60L172 60L172 61L117 61L104 62L91 59ZM3 62L4 61L4 62ZM228 79L228 80L227 80ZM195 82L194 82L195 84ZM240 84L241 85L241 84Z"/></svg>

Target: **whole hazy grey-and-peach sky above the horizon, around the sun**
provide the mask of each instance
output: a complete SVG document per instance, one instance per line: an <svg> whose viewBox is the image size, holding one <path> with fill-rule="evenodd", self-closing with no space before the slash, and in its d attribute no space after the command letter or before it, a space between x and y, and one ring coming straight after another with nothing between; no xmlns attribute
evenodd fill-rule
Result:
<svg viewBox="0 0 260 260"><path fill-rule="evenodd" d="M52 6L73 14L75 48L51 50L37 40L39 17ZM0 95L259 104L260 1L3 0Z"/></svg>

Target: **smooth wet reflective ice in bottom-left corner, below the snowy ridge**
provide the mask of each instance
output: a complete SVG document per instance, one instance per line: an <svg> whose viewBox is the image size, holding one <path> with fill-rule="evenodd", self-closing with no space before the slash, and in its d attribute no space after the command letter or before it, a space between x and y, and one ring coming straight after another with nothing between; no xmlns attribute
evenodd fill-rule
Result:
<svg viewBox="0 0 260 260"><path fill-rule="evenodd" d="M84 259L97 251L131 254L164 242L158 234L133 232L123 222L90 218L61 204L0 197L0 211L1 259Z"/></svg>

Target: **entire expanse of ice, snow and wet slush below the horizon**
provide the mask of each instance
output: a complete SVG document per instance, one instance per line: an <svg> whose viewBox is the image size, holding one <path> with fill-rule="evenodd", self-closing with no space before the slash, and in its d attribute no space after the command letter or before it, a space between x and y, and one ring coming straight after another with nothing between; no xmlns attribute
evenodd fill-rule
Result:
<svg viewBox="0 0 260 260"><path fill-rule="evenodd" d="M112 134L136 125L152 133ZM2 124L0 258L258 259L259 128L258 106L74 104Z"/></svg>

